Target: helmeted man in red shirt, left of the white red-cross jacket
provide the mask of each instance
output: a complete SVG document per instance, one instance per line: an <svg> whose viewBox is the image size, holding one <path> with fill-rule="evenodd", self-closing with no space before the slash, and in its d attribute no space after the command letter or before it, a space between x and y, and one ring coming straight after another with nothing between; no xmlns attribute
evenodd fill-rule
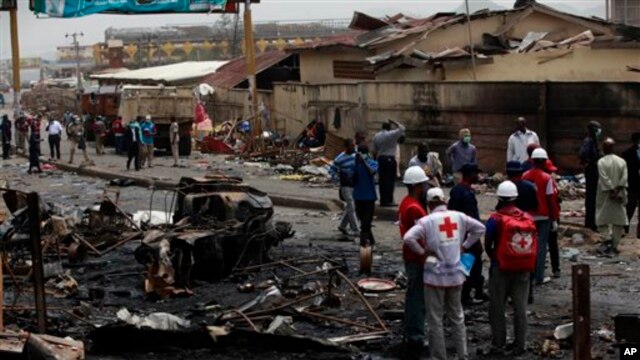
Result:
<svg viewBox="0 0 640 360"><path fill-rule="evenodd" d="M400 202L398 210L401 238L418 220L427 216L427 192L425 187L427 181L429 181L429 178L420 166L412 166L404 173L402 182L407 186L407 196ZM424 243L420 243L420 245L424 246ZM407 358L419 359L425 338L424 282L422 276L425 257L413 253L408 245L403 243L402 258L408 280L404 298L405 353Z"/></svg>

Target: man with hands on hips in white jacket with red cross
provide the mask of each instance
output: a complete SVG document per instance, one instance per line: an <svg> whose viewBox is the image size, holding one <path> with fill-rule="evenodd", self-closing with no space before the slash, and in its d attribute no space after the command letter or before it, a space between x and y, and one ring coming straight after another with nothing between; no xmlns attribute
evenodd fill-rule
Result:
<svg viewBox="0 0 640 360"><path fill-rule="evenodd" d="M467 330L460 296L464 272L460 255L478 242L485 228L463 213L447 210L440 188L427 192L429 215L420 219L404 236L404 243L419 256L428 256L424 265L424 297L431 358L447 358L442 317L446 312L453 326L453 340L459 359L466 359ZM466 240L465 240L466 237ZM422 242L424 245L420 245Z"/></svg>

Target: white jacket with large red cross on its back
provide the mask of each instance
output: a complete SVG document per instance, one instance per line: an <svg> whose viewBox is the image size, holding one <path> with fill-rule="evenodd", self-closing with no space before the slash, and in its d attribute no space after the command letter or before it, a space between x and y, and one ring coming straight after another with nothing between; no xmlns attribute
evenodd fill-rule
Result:
<svg viewBox="0 0 640 360"><path fill-rule="evenodd" d="M456 287L465 281L460 263L462 245L469 249L484 235L484 225L442 205L418 220L404 236L404 243L417 255L432 255L424 265L424 283L433 287ZM468 235L467 235L468 234ZM465 239L466 236L466 239ZM425 246L420 245L422 241Z"/></svg>

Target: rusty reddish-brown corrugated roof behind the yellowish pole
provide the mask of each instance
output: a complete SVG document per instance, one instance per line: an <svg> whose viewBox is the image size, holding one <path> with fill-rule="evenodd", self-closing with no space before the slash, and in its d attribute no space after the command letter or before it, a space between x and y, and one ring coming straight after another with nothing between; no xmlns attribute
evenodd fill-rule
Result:
<svg viewBox="0 0 640 360"><path fill-rule="evenodd" d="M287 59L292 54L283 51L267 51L256 55L256 74L276 65ZM208 75L203 83L222 87L232 88L243 82L247 78L246 63L244 56L229 61L220 67L214 74Z"/></svg>

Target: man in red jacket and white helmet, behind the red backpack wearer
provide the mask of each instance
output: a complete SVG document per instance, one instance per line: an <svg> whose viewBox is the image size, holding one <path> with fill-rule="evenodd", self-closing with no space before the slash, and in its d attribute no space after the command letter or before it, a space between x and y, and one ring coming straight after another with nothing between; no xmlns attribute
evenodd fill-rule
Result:
<svg viewBox="0 0 640 360"><path fill-rule="evenodd" d="M533 151L531 158L534 168L524 173L522 178L534 183L538 197L538 209L533 213L538 231L538 257L534 277L535 284L541 285L547 281L544 277L544 267L547 260L549 233L558 228L558 219L554 217L553 211L553 179L545 171L549 155L546 150L538 148Z"/></svg>

